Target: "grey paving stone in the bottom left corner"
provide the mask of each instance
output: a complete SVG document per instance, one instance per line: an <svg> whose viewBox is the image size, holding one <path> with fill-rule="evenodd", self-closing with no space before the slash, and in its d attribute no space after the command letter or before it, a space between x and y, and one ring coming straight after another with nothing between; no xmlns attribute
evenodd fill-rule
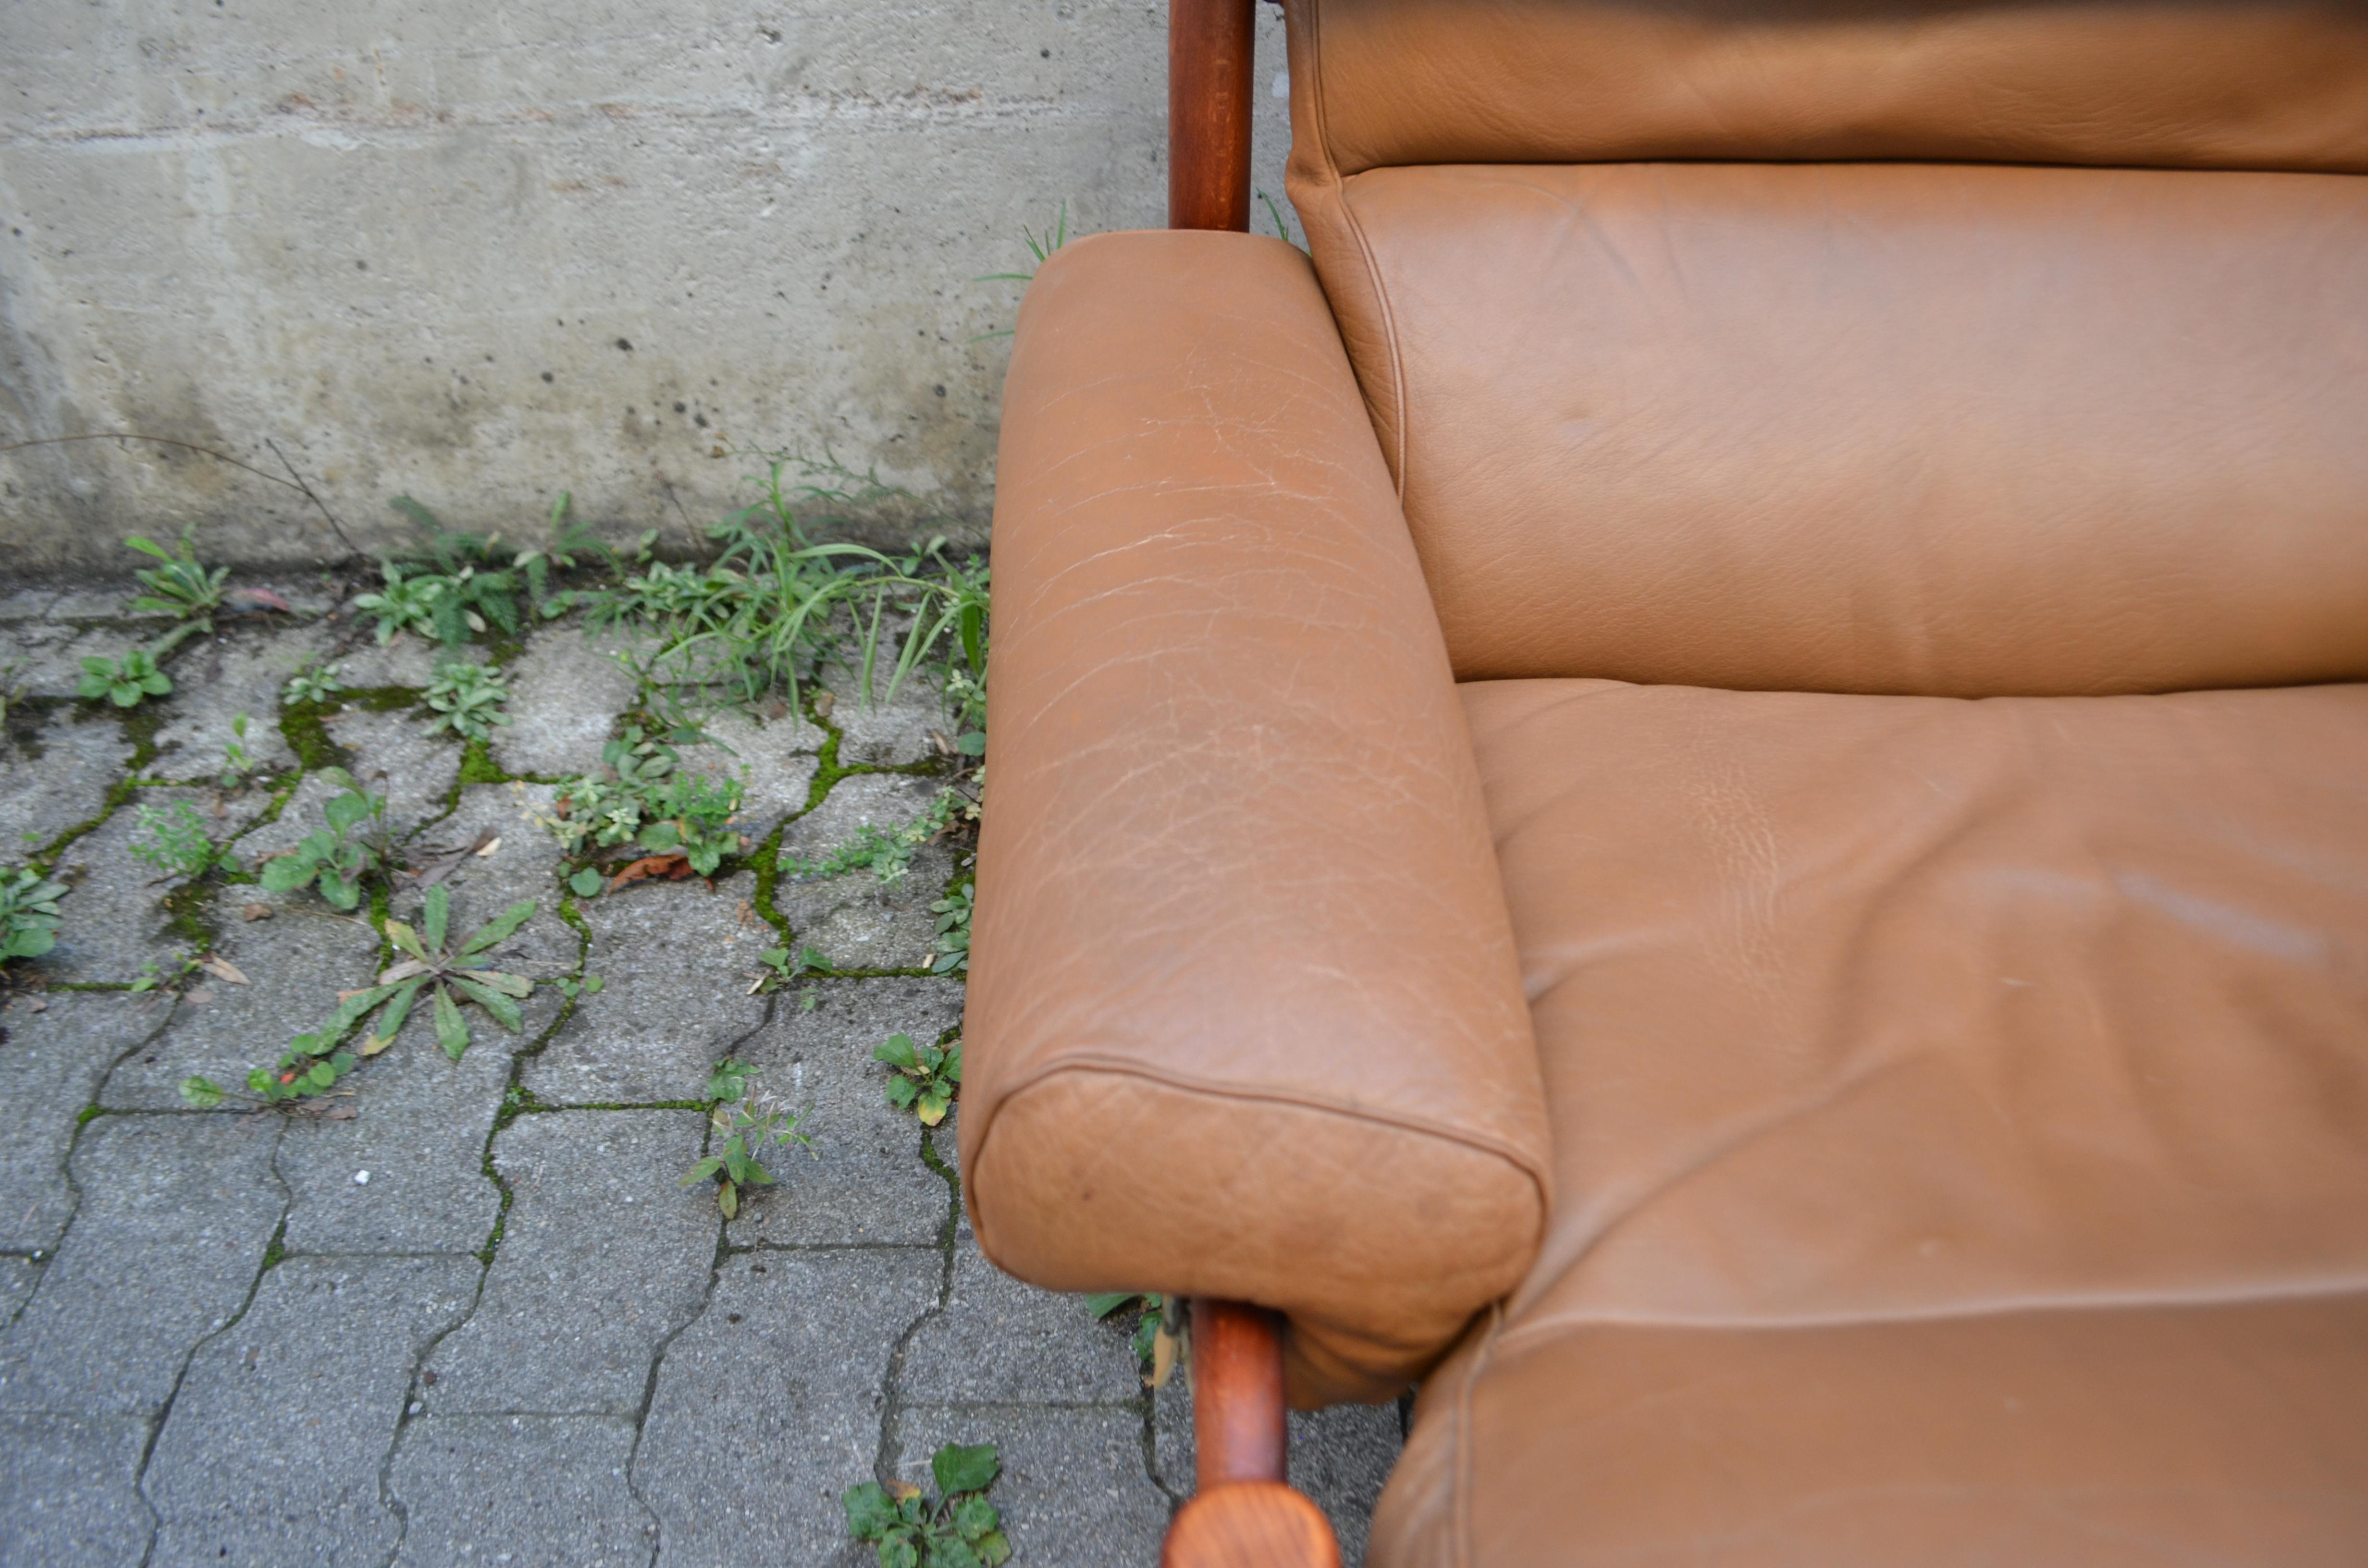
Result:
<svg viewBox="0 0 2368 1568"><path fill-rule="evenodd" d="M137 1568L147 1421L0 1414L0 1568Z"/></svg>

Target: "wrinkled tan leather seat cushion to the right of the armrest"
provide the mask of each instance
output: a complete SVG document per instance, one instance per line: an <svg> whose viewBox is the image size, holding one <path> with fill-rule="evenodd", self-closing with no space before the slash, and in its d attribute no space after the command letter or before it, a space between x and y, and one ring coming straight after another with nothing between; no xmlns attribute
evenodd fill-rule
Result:
<svg viewBox="0 0 2368 1568"><path fill-rule="evenodd" d="M2368 1554L2368 687L1463 699L1556 1199L1378 1561Z"/></svg>

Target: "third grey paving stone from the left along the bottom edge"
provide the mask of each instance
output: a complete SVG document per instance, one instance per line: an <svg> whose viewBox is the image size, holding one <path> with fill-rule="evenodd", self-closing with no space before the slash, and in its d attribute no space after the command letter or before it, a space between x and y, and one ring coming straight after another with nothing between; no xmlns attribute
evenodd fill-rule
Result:
<svg viewBox="0 0 2368 1568"><path fill-rule="evenodd" d="M632 1495L632 1421L419 1416L395 1450L398 1568L642 1568L658 1521Z"/></svg>

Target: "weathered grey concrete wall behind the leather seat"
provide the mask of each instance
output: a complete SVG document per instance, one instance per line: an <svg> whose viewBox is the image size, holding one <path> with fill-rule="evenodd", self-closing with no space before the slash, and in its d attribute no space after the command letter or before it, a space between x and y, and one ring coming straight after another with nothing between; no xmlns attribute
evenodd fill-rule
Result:
<svg viewBox="0 0 2368 1568"><path fill-rule="evenodd" d="M521 538L559 490L680 547L751 467L710 452L829 445L983 538L1006 346L973 339L1021 289L973 275L1063 199L1163 220L1165 38L1144 0L5 0L0 445L277 445L365 550L395 493ZM185 448L0 452L0 576L182 523L341 552Z"/></svg>

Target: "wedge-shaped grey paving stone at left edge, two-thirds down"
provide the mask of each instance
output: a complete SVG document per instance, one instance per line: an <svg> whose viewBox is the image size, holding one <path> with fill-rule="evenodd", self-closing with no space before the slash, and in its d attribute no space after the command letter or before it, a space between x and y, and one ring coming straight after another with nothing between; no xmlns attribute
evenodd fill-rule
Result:
<svg viewBox="0 0 2368 1568"><path fill-rule="evenodd" d="M66 1149L107 1068L156 1033L161 1000L59 990L0 1009L0 1248L57 1246L73 1213Z"/></svg>

